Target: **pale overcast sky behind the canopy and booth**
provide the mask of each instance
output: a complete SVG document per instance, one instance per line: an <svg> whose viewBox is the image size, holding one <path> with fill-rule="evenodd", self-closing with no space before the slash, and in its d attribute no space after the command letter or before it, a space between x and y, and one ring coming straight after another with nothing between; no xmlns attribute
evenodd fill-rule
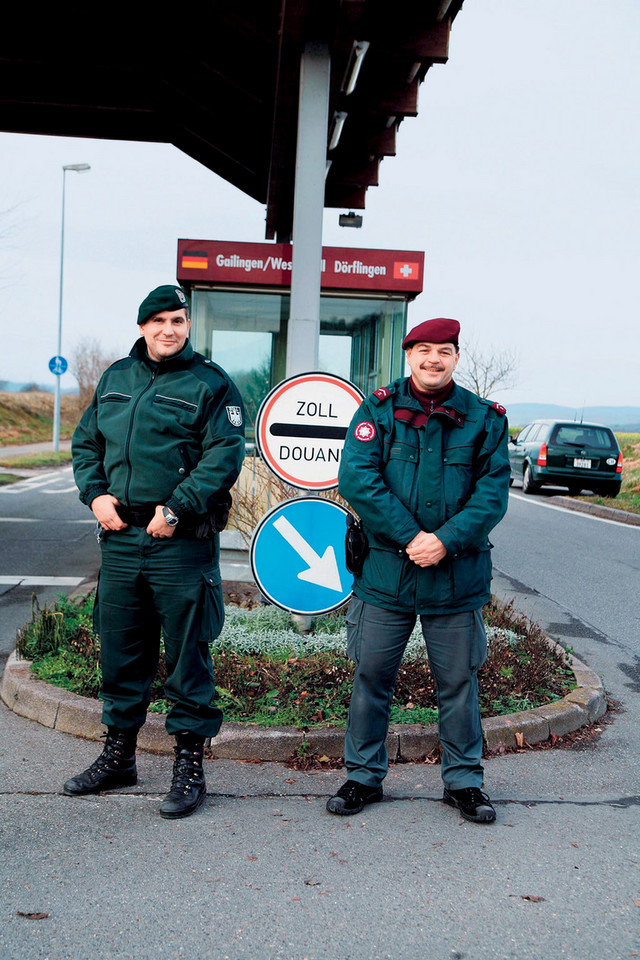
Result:
<svg viewBox="0 0 640 960"><path fill-rule="evenodd" d="M361 230L324 243L424 250L410 324L460 320L512 348L497 399L640 405L637 0L467 0ZM0 379L50 382L63 164L62 353L127 353L138 304L173 282L176 240L264 240L262 205L168 145L0 134ZM8 336L7 336L8 335ZM70 386L69 375L63 386Z"/></svg>

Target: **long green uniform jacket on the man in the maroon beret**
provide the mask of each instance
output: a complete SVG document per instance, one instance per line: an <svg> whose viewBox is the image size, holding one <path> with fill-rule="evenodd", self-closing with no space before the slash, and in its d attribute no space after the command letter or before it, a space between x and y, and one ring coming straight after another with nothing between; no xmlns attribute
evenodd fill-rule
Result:
<svg viewBox="0 0 640 960"><path fill-rule="evenodd" d="M487 602L489 532L509 495L504 408L454 386L427 419L408 378L369 396L353 418L339 491L361 517L369 552L354 593L389 610L460 613ZM421 530L447 549L437 566L406 555Z"/></svg>

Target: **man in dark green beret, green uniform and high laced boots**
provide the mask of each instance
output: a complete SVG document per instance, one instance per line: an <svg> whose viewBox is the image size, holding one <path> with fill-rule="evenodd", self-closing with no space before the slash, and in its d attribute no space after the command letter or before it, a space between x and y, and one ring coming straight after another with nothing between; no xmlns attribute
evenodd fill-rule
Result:
<svg viewBox="0 0 640 960"><path fill-rule="evenodd" d="M191 347L180 287L152 290L138 324L140 339L105 371L73 436L75 480L102 547L94 617L108 733L102 754L63 790L137 782L162 629L176 757L160 813L178 818L206 796L204 741L222 723L208 643L224 619L218 529L242 466L243 410L224 370Z"/></svg>

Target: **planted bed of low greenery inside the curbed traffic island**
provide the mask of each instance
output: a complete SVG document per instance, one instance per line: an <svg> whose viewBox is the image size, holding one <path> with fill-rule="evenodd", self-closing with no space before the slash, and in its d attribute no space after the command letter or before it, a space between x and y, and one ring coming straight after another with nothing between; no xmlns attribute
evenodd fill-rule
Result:
<svg viewBox="0 0 640 960"><path fill-rule="evenodd" d="M42 680L84 696L100 689L100 642L92 629L93 596L59 598L19 631L18 653L33 661ZM213 645L219 706L227 720L260 726L310 728L346 722L353 663L345 652L340 612L318 617L311 635L291 627L275 607L226 608L225 628ZM485 608L489 656L480 673L484 716L512 713L558 700L573 686L573 674L552 651L539 627L493 602ZM166 667L161 655L151 710L166 713ZM394 723L434 723L436 690L419 630L414 631L398 673Z"/></svg>

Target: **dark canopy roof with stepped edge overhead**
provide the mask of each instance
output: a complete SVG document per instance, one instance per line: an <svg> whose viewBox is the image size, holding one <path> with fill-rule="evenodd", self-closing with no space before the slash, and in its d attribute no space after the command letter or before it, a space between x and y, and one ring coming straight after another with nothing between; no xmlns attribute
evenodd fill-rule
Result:
<svg viewBox="0 0 640 960"><path fill-rule="evenodd" d="M0 37L0 129L173 143L264 203L266 236L285 240L305 43L331 54L328 144L346 114L327 154L325 206L362 209L398 124L417 115L419 84L447 60L461 6L201 0L177 26L148 4L14 4Z"/></svg>

